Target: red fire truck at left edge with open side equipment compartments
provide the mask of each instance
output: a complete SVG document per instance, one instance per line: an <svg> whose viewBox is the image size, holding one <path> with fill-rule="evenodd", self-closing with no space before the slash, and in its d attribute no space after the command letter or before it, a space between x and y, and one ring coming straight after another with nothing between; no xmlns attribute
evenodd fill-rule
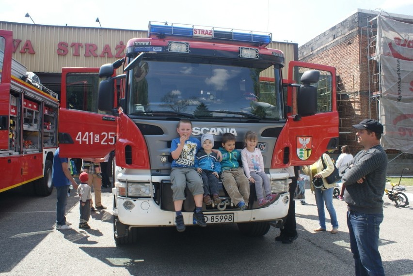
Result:
<svg viewBox="0 0 413 276"><path fill-rule="evenodd" d="M12 59L12 31L0 30L0 192L31 183L52 192L57 148L57 94Z"/></svg>

